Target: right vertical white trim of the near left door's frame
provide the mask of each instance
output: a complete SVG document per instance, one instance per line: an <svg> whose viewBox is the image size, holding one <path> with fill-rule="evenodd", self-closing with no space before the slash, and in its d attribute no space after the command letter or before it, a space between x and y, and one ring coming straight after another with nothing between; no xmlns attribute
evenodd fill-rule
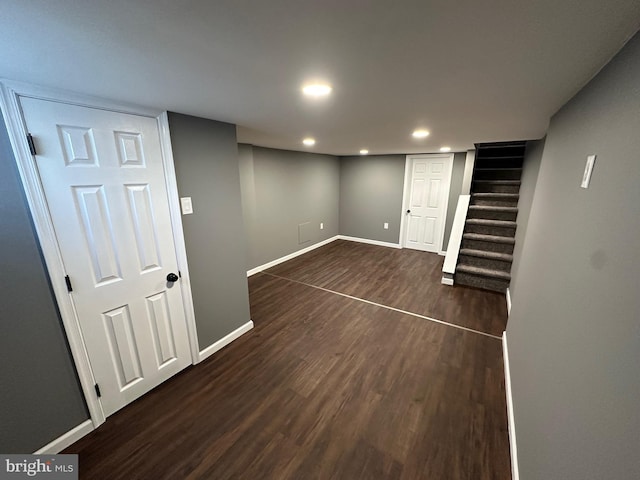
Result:
<svg viewBox="0 0 640 480"><path fill-rule="evenodd" d="M200 346L198 344L198 331L196 327L196 313L193 307L193 296L191 293L191 277L189 276L189 264L187 262L187 248L184 243L184 230L182 228L182 215L180 211L180 201L178 194L178 182L176 179L176 169L173 160L173 148L171 146L171 132L169 131L169 115L163 112L158 116L158 128L160 131L160 144L162 156L164 158L164 176L167 185L169 200L169 214L171 215L171 225L173 227L173 243L176 248L176 259L178 270L181 274L180 287L182 293L182 303L184 316L187 323L187 334L189 336L189 347L191 348L191 362L195 365L200 361Z"/></svg>

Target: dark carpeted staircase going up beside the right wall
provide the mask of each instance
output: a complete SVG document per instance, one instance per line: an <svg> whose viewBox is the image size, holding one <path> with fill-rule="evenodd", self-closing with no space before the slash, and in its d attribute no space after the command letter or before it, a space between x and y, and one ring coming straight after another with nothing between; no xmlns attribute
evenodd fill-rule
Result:
<svg viewBox="0 0 640 480"><path fill-rule="evenodd" d="M505 293L511 281L525 142L476 145L455 283Z"/></svg>

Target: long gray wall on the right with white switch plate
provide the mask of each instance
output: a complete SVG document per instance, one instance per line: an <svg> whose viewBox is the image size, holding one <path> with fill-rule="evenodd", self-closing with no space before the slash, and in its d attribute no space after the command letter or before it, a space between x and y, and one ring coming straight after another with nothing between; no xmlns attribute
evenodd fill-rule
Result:
<svg viewBox="0 0 640 480"><path fill-rule="evenodd" d="M547 134L507 327L526 480L640 478L639 86L636 35Z"/></svg>

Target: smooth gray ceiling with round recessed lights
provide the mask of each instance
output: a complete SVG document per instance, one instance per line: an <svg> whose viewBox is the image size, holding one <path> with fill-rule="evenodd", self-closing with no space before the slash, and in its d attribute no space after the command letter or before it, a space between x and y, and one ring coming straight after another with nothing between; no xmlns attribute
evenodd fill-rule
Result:
<svg viewBox="0 0 640 480"><path fill-rule="evenodd" d="M235 123L260 146L463 151L542 137L639 27L638 0L2 0L0 77ZM309 80L332 94L304 98Z"/></svg>

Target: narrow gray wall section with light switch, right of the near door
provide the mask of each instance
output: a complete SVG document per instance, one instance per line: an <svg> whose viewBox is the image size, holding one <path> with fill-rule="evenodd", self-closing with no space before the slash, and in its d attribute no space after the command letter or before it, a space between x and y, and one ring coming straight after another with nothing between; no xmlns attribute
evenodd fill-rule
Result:
<svg viewBox="0 0 640 480"><path fill-rule="evenodd" d="M249 321L235 125L169 114L198 341L204 349Z"/></svg>

